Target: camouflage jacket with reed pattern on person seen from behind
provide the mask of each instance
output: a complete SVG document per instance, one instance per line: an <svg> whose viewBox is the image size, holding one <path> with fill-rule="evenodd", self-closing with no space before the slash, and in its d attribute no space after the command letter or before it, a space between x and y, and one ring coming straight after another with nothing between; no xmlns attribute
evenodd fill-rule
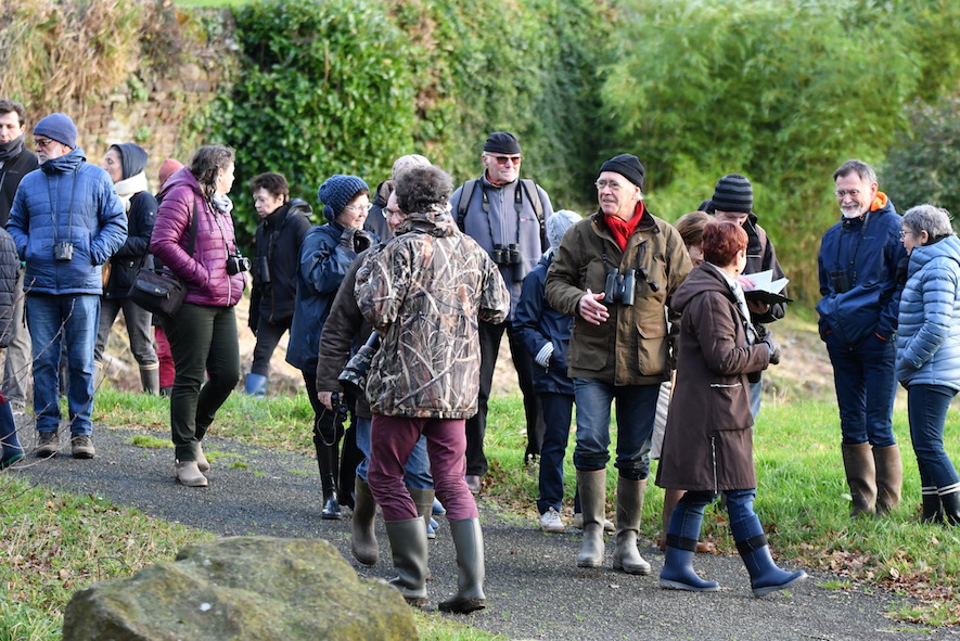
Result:
<svg viewBox="0 0 960 641"><path fill-rule="evenodd" d="M479 390L477 319L500 323L510 292L448 214L410 214L357 272L357 303L381 335L367 382L374 413L468 419Z"/></svg>

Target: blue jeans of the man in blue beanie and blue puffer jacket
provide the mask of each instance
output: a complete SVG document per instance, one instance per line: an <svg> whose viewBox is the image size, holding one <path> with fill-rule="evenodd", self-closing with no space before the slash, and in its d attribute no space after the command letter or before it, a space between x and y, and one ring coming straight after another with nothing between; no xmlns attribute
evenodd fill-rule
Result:
<svg viewBox="0 0 960 641"><path fill-rule="evenodd" d="M34 348L34 412L39 432L60 427L60 358L66 345L71 434L92 434L93 346L100 320L100 296L91 294L27 296L27 322Z"/></svg>

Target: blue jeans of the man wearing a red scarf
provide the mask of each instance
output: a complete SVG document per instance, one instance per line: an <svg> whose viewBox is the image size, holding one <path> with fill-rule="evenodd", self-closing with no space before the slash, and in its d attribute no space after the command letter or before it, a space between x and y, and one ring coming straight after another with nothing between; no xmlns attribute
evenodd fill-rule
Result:
<svg viewBox="0 0 960 641"><path fill-rule="evenodd" d="M577 447L574 465L596 472L610 461L610 407L616 401L617 446L614 466L628 480L650 474L650 438L660 384L615 386L596 379L574 379Z"/></svg>

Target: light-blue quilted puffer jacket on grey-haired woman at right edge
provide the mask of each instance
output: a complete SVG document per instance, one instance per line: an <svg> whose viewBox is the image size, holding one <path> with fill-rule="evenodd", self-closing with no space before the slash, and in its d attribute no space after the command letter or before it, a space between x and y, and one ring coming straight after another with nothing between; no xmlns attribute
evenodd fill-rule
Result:
<svg viewBox="0 0 960 641"><path fill-rule="evenodd" d="M897 380L960 389L960 240L913 247L900 296Z"/></svg>

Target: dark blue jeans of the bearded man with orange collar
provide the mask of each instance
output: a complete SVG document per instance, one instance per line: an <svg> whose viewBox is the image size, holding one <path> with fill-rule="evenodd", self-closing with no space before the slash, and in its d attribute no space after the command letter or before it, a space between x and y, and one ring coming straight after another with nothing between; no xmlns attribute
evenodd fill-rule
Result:
<svg viewBox="0 0 960 641"><path fill-rule="evenodd" d="M896 345L871 334L850 347L831 332L827 335L827 351L833 363L843 444L896 445L892 420L897 392Z"/></svg>

